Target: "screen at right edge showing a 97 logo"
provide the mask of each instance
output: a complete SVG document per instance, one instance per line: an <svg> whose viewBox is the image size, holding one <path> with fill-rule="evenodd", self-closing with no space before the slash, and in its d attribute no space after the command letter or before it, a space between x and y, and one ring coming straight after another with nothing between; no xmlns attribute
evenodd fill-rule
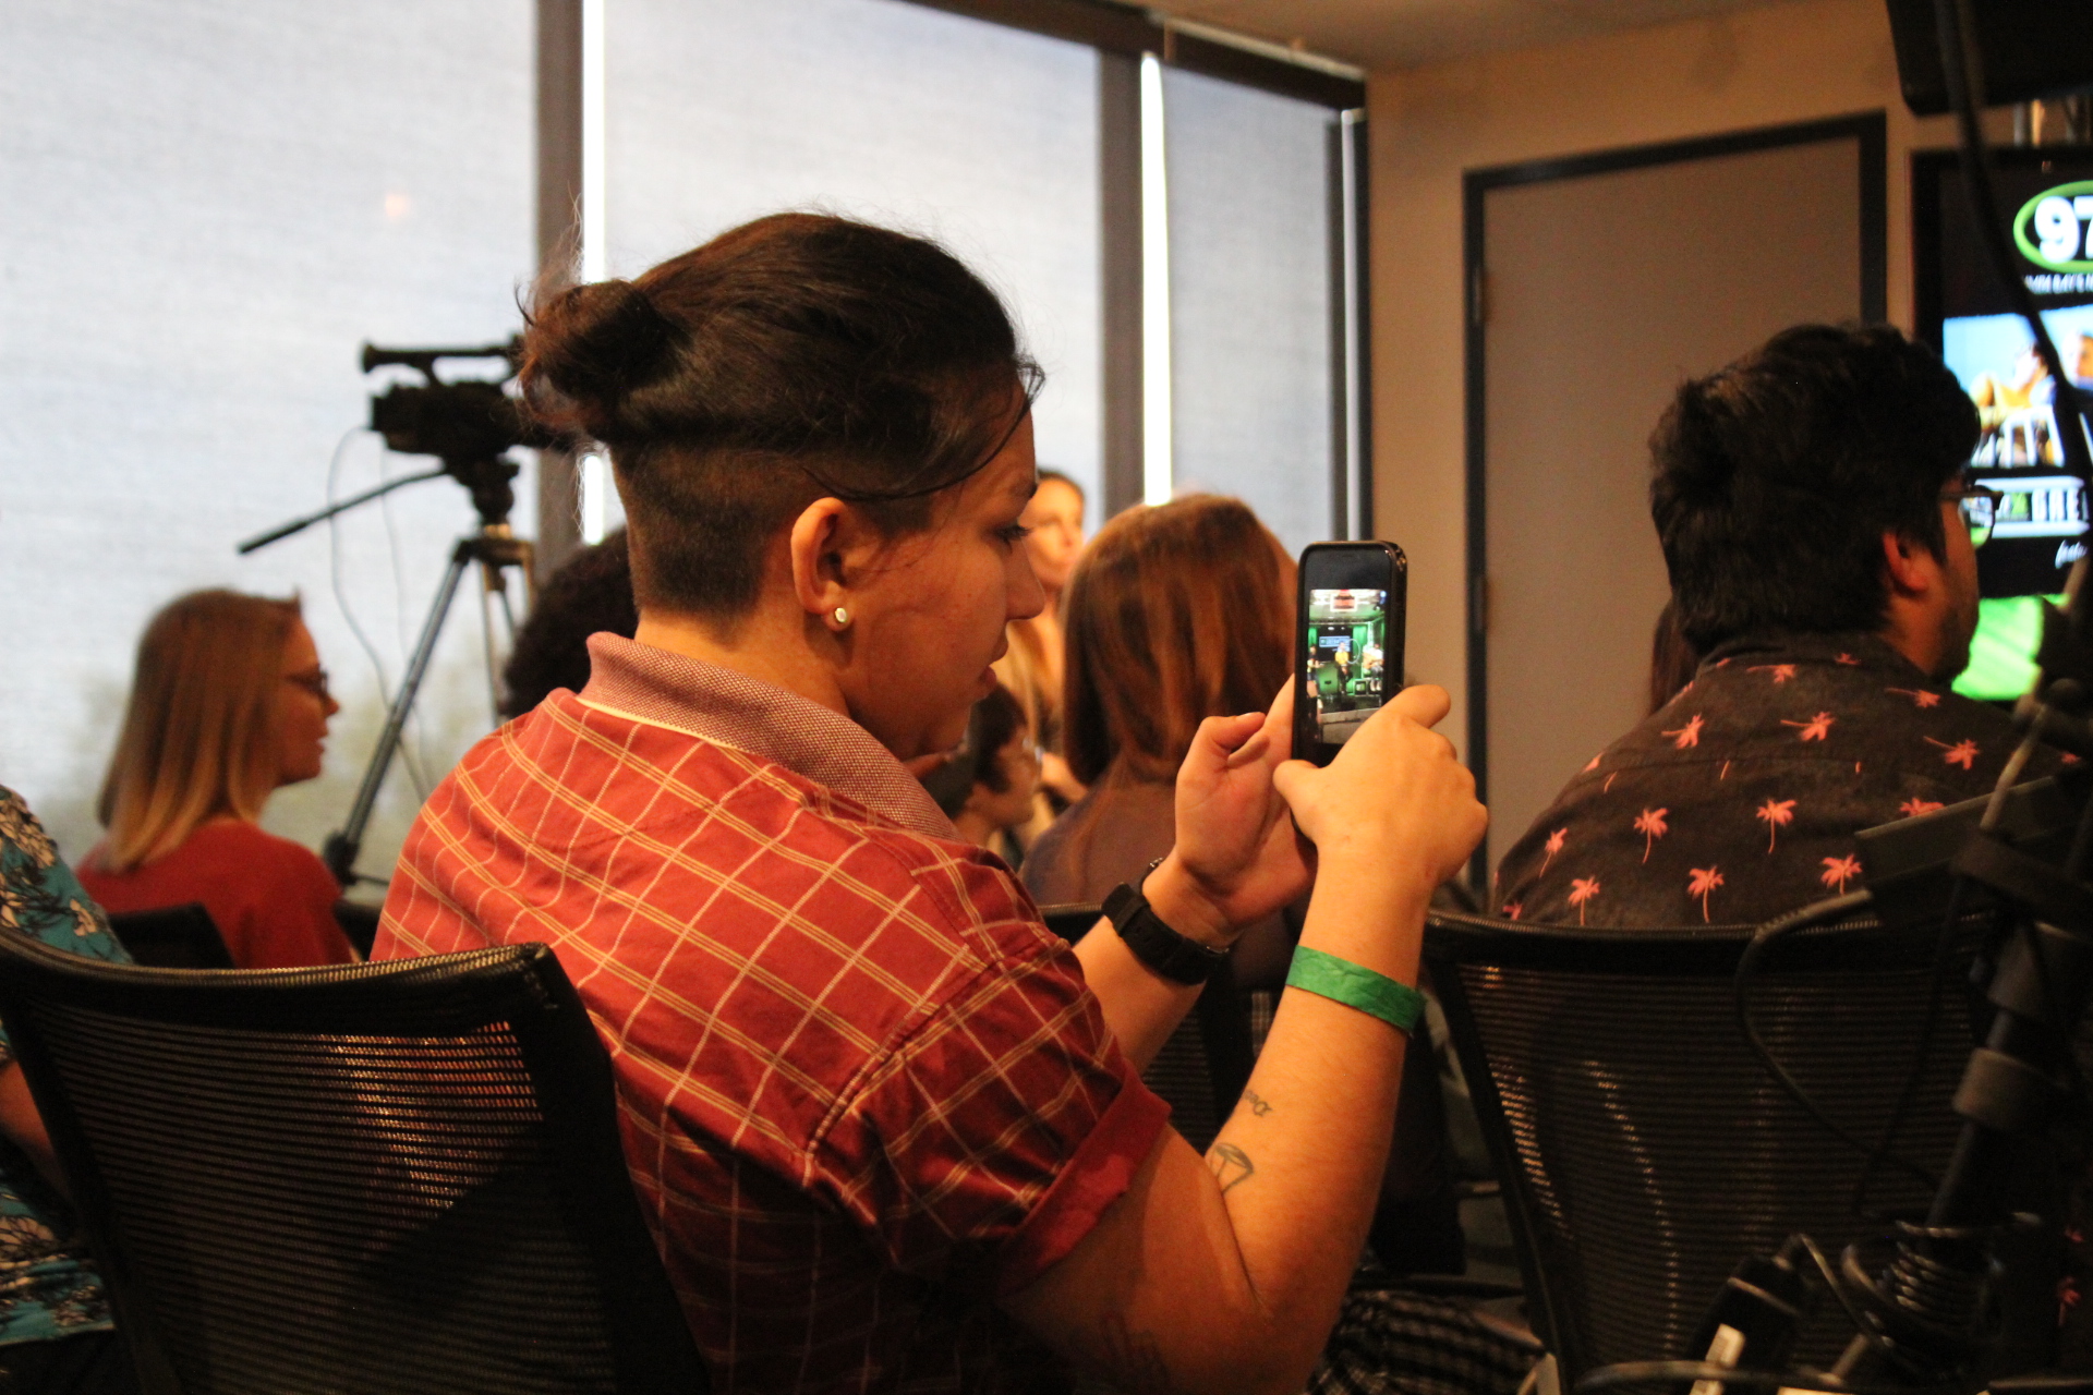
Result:
<svg viewBox="0 0 2093 1395"><path fill-rule="evenodd" d="M2020 146L1997 161L2016 272L2064 370L2093 389L2093 146ZM1984 255L1953 151L1911 157L1911 234L1917 335L1976 402L1982 435L1970 464L2001 494L1976 554L1980 617L1955 690L2016 699L2034 678L2039 598L2060 600L2085 552L2087 500L2064 468L2055 383Z"/></svg>

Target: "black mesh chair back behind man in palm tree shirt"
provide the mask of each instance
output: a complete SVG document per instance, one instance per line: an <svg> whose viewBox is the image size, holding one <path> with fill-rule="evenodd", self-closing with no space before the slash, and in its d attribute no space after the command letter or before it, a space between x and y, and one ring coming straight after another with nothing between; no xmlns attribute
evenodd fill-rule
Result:
<svg viewBox="0 0 2093 1395"><path fill-rule="evenodd" d="M1476 1096L1536 1334L1576 1380L1687 1351L1746 1255L1808 1232L1833 1257L1880 1230L1852 1211L1867 1159L1817 1125L1743 1042L1733 975L1750 929L1580 931L1434 914L1425 962ZM1800 931L1766 956L1752 1019L1833 1119L1877 1140L1917 1058L1938 931L1873 918ZM1970 1056L1957 937L1896 1154L1938 1175ZM1932 1188L1894 1167L1873 1215L1921 1215ZM1829 1364L1827 1316L1798 1357Z"/></svg>

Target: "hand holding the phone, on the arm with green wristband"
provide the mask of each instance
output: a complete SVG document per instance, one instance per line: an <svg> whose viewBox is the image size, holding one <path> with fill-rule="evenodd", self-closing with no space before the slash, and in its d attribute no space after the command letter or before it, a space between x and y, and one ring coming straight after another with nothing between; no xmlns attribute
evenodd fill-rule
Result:
<svg viewBox="0 0 2093 1395"><path fill-rule="evenodd" d="M1363 864L1430 893L1476 851L1490 824L1476 776L1430 730L1450 709L1444 688L1404 688L1352 732L1325 768L1285 761L1273 786L1321 866Z"/></svg>

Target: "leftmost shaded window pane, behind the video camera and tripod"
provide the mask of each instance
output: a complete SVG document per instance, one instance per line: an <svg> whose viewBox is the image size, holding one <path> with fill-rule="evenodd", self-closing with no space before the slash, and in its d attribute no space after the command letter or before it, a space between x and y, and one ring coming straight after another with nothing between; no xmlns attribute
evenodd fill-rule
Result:
<svg viewBox="0 0 2093 1395"><path fill-rule="evenodd" d="M333 596L329 529L234 544L377 483L362 341L488 343L532 272L532 15L507 0L13 6L0 44L0 780L69 857L147 617L180 592L297 592L345 711L329 774L268 824L337 826L381 722ZM527 496L527 489L521 491ZM473 525L414 485L345 517L341 581L398 680ZM532 531L527 506L517 529ZM488 730L463 600L417 747L440 774ZM393 778L364 868L419 807Z"/></svg>

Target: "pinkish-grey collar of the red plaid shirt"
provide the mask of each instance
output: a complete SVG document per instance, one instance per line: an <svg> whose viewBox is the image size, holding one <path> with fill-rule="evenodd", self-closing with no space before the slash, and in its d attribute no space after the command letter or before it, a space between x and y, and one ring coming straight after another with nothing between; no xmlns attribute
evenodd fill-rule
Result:
<svg viewBox="0 0 2093 1395"><path fill-rule="evenodd" d="M957 837L923 782L871 732L747 673L615 634L592 634L582 703L777 761L910 832Z"/></svg>

